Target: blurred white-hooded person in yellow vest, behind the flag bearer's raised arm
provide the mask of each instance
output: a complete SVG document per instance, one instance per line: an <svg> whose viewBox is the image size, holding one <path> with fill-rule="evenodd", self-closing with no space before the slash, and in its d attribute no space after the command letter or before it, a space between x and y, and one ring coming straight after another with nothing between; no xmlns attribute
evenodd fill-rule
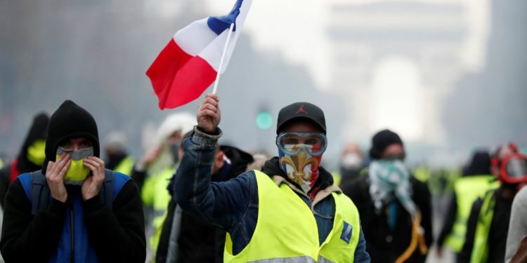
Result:
<svg viewBox="0 0 527 263"><path fill-rule="evenodd" d="M154 147L147 151L132 172L141 182L141 200L145 205L148 252L155 256L160 240L160 229L171 199L167 192L169 180L179 163L181 138L194 127L195 116L188 112L170 114L157 129Z"/></svg>

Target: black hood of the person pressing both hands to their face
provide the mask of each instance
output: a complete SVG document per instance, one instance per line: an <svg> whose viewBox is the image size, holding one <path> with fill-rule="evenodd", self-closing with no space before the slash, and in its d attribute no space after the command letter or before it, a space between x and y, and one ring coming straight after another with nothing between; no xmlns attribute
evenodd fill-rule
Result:
<svg viewBox="0 0 527 263"><path fill-rule="evenodd" d="M93 116L71 100L66 100L51 115L46 140L46 161L42 173L46 173L48 161L55 161L61 142L73 137L87 137L93 143L93 156L100 156L97 123Z"/></svg>

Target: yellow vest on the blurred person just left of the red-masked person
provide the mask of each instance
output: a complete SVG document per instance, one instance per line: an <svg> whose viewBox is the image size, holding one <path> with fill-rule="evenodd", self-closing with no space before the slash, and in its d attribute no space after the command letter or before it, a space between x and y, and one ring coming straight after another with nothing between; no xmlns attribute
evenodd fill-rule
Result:
<svg viewBox="0 0 527 263"><path fill-rule="evenodd" d="M445 244L454 252L459 253L463 248L472 204L477 198L482 198L486 191L498 186L499 182L493 175L466 176L456 180L454 194L457 201L457 215L452 231L445 240Z"/></svg>

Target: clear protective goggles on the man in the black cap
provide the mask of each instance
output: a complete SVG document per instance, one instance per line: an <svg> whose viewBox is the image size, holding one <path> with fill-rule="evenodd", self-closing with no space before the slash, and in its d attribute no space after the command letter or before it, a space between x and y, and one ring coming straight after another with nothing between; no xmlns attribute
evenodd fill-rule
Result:
<svg viewBox="0 0 527 263"><path fill-rule="evenodd" d="M327 138L323 133L280 133L276 146L287 155L305 150L311 156L320 156L326 150Z"/></svg>

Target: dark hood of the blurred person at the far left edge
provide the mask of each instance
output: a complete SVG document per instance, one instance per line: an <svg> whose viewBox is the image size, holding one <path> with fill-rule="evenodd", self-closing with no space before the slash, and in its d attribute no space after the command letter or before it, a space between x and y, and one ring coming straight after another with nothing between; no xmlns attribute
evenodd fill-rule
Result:
<svg viewBox="0 0 527 263"><path fill-rule="evenodd" d="M34 116L30 130L25 137L24 144L22 144L22 148L18 152L18 172L29 173L40 169L39 165L36 165L27 159L27 148L29 148L36 140L46 140L48 123L49 117L44 112Z"/></svg>

